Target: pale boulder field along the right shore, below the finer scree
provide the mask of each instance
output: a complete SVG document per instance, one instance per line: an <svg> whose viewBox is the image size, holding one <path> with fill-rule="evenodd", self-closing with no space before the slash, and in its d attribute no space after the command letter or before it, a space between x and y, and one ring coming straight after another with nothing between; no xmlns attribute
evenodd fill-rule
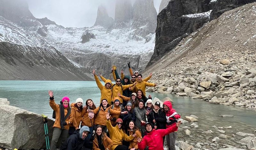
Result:
<svg viewBox="0 0 256 150"><path fill-rule="evenodd" d="M158 86L146 91L256 110L256 55L241 53L242 57L233 59L215 58L217 54L213 53L203 63L195 60L154 72L151 82Z"/></svg>

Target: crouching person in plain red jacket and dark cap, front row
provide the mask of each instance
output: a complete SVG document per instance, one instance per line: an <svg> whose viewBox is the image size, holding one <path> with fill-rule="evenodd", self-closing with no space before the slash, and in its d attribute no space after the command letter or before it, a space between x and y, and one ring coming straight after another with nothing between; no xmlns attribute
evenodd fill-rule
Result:
<svg viewBox="0 0 256 150"><path fill-rule="evenodd" d="M152 129L152 124L147 122L145 124L145 128L147 131L147 135L143 137L141 140L140 137L137 138L138 148L144 149L148 146L148 150L164 150L164 146L159 143L163 143L163 137L171 132L174 132L178 129L181 121L178 121L177 124L167 128L167 129Z"/></svg>

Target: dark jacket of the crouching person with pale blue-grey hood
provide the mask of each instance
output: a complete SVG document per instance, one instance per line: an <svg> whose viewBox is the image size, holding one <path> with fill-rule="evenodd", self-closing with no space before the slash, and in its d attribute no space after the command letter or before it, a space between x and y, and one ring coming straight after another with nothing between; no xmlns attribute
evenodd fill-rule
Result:
<svg viewBox="0 0 256 150"><path fill-rule="evenodd" d="M92 149L91 139L80 138L79 131L75 131L68 139L60 146L60 150L84 150L86 148ZM92 139L93 140L93 139Z"/></svg>

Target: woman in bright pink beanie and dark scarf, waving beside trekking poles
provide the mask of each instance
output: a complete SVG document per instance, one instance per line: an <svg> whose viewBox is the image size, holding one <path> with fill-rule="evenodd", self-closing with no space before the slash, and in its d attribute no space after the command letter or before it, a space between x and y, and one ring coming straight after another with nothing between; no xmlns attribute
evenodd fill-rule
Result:
<svg viewBox="0 0 256 150"><path fill-rule="evenodd" d="M50 106L55 111L55 122L53 124L52 141L50 150L55 150L57 147L58 140L60 139L61 144L65 142L68 137L69 124L72 123L74 116L71 108L69 107L69 98L63 97L60 104L56 104L53 97L53 92L48 91L50 96Z"/></svg>

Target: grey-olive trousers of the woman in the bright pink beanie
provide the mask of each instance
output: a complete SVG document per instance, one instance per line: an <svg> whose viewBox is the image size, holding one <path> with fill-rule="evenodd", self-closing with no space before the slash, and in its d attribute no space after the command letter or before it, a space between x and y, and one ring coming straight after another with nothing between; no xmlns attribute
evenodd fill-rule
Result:
<svg viewBox="0 0 256 150"><path fill-rule="evenodd" d="M57 147L58 141L61 141L61 144L63 144L68 137L68 130L65 129L60 129L60 128L53 128L53 133L52 133L52 141L51 141L51 146L50 150L55 150Z"/></svg>

